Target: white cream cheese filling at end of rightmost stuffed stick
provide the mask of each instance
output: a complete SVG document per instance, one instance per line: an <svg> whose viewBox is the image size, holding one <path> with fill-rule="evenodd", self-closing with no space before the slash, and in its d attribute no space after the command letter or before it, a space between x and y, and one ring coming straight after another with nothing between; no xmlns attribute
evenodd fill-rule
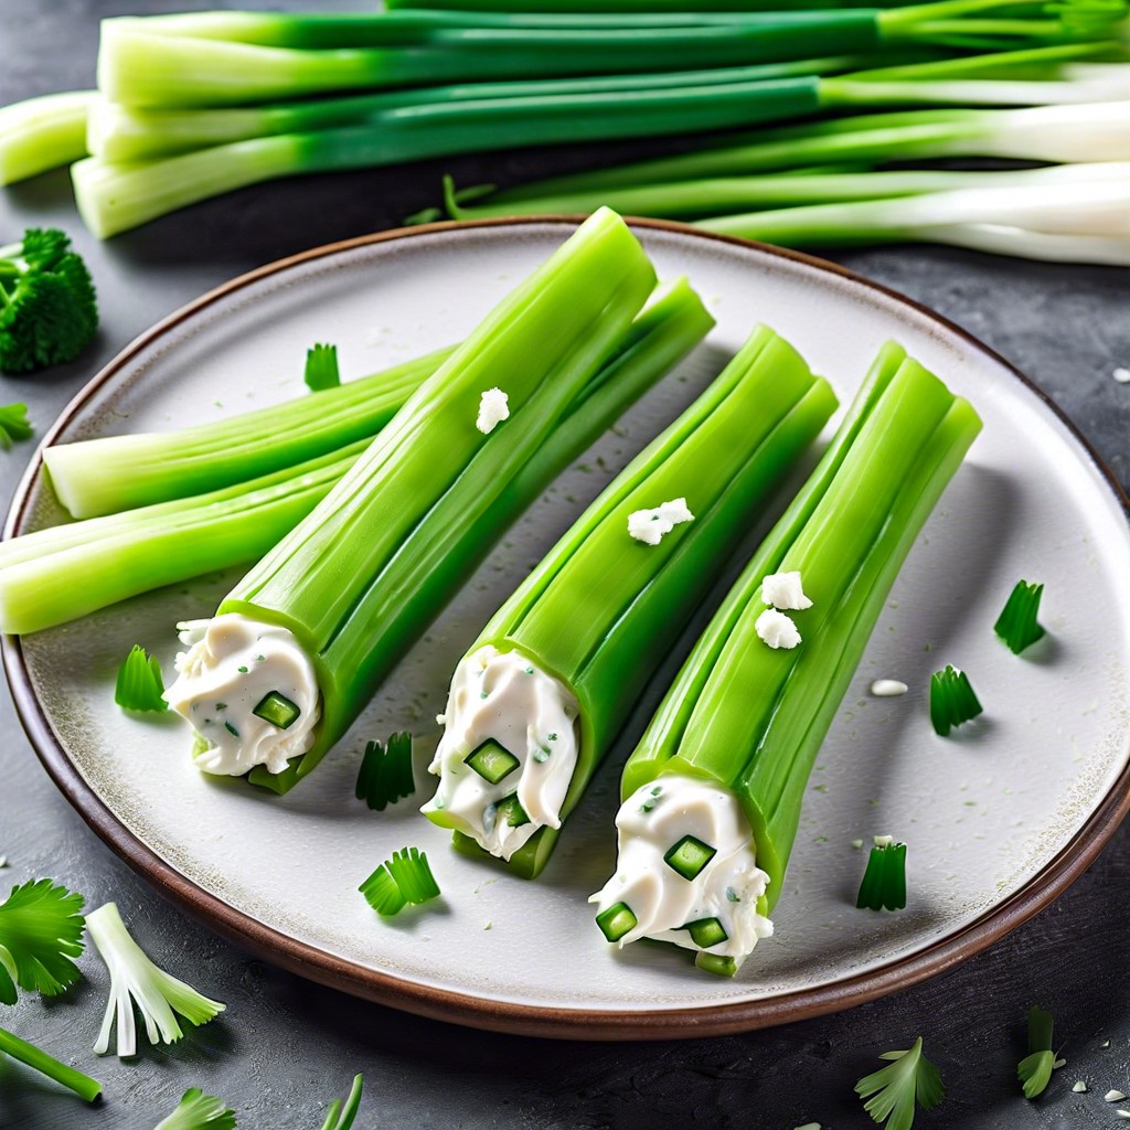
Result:
<svg viewBox="0 0 1130 1130"><path fill-rule="evenodd" d="M698 950L686 927L718 919L727 938L704 950L740 965L773 923L757 912L768 876L757 867L754 836L741 806L718 785L667 774L637 789L616 816L616 873L589 899L603 913L624 903L635 927L617 945L640 938ZM714 855L687 879L663 858L686 836Z"/></svg>

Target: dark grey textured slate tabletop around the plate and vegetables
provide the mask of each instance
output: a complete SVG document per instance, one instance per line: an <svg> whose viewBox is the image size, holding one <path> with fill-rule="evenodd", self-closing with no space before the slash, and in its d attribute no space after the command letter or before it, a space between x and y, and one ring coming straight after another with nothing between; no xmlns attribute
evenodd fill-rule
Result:
<svg viewBox="0 0 1130 1130"><path fill-rule="evenodd" d="M0 104L93 81L96 20L130 7L97 0L6 0L0 7ZM199 5L198 7L206 7ZM245 7L268 7L246 3ZM299 7L278 5L273 7ZM313 7L313 6L307 6ZM346 5L338 5L346 7ZM364 7L362 3L353 7ZM530 151L443 163L460 183L580 167L584 150ZM98 281L103 328L81 363L46 376L0 377L0 402L26 400L45 426L134 334L203 290L260 263L397 224L433 202L441 164L252 189L99 245L81 228L64 174L0 192L0 234L58 224L76 236ZM2 241L0 241L2 242ZM836 257L927 303L1027 372L1077 421L1123 483L1130 478L1130 279L1098 268L1052 268L960 252L889 249ZM0 454L11 497L28 447ZM918 988L844 1012L695 1043L559 1044L472 1033L402 1016L273 970L183 918L82 824L41 770L0 695L0 893L50 875L115 899L148 949L228 1003L227 1014L169 1050L131 1063L96 1061L105 999L101 964L54 1002L28 1000L0 1023L95 1074L106 1102L87 1109L11 1062L0 1062L0 1127L146 1130L189 1086L223 1095L252 1130L321 1124L328 1099L364 1071L357 1125L370 1128L616 1128L775 1130L819 1121L871 1123L852 1094L875 1057L919 1033L949 1096L923 1127L1118 1125L1109 1088L1130 1092L1130 829L1062 898L986 953ZM1024 1017L1051 1008L1067 1067L1036 1104L1018 1095ZM1103 1048L1105 1041L1109 1048ZM1088 1094L1071 1093L1085 1079Z"/></svg>

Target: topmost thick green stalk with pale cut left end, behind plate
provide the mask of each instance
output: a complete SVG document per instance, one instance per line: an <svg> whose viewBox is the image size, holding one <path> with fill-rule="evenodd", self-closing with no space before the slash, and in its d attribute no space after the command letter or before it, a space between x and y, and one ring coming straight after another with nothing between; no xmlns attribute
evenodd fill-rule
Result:
<svg viewBox="0 0 1130 1130"><path fill-rule="evenodd" d="M287 24L281 16L197 20L220 36L233 24L238 41L163 34L164 17L111 19L102 25L98 89L137 106L220 106L444 82L740 67L899 44L1008 50L1103 38L1125 15L1118 0L1064 0L1061 8L1044 15L1033 12L1031 0L938 0L694 16L391 12L292 17L293 32L278 31ZM1015 10L1005 18L1007 9ZM255 24L267 27L261 43L245 31ZM191 27L192 18L180 26ZM294 42L312 45L276 45Z"/></svg>

